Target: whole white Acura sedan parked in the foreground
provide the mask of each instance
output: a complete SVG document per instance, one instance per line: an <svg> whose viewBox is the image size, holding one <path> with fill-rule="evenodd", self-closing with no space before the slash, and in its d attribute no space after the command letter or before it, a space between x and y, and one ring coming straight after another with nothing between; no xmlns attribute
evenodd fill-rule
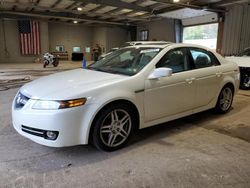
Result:
<svg viewBox="0 0 250 188"><path fill-rule="evenodd" d="M208 109L226 113L239 76L237 64L205 47L129 46L87 69L24 85L13 101L13 125L42 145L114 151L136 129Z"/></svg>

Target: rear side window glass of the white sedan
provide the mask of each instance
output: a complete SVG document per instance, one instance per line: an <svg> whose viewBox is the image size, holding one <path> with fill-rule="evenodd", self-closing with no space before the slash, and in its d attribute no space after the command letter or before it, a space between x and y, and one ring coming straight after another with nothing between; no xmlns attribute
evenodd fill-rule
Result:
<svg viewBox="0 0 250 188"><path fill-rule="evenodd" d="M220 65L217 58L209 51L192 48L190 52L196 69Z"/></svg>

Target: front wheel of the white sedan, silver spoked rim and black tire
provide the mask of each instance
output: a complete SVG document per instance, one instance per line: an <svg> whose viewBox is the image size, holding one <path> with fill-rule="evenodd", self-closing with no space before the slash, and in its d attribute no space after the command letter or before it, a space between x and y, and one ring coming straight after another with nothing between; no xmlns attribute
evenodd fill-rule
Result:
<svg viewBox="0 0 250 188"><path fill-rule="evenodd" d="M135 115L129 105L109 105L97 115L93 123L92 142L100 150L118 150L127 144L135 123Z"/></svg>

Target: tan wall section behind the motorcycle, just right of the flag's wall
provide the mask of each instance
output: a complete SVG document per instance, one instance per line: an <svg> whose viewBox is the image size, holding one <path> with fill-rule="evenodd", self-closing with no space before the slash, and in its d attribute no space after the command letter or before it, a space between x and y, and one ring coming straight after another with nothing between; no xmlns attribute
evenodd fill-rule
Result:
<svg viewBox="0 0 250 188"><path fill-rule="evenodd" d="M92 46L93 28L84 25L49 23L49 49L55 51L57 45L63 45L69 54L69 60L74 46L80 46L89 60L90 54L85 53L86 47Z"/></svg>

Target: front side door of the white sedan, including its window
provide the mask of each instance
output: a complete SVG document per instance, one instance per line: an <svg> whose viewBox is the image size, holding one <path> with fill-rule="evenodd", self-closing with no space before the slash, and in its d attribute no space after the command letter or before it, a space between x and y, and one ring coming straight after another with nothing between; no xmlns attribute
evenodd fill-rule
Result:
<svg viewBox="0 0 250 188"><path fill-rule="evenodd" d="M190 55L187 48L168 51L156 64L156 68L173 70L170 77L145 81L145 120L152 121L192 110L195 82L190 73Z"/></svg>

